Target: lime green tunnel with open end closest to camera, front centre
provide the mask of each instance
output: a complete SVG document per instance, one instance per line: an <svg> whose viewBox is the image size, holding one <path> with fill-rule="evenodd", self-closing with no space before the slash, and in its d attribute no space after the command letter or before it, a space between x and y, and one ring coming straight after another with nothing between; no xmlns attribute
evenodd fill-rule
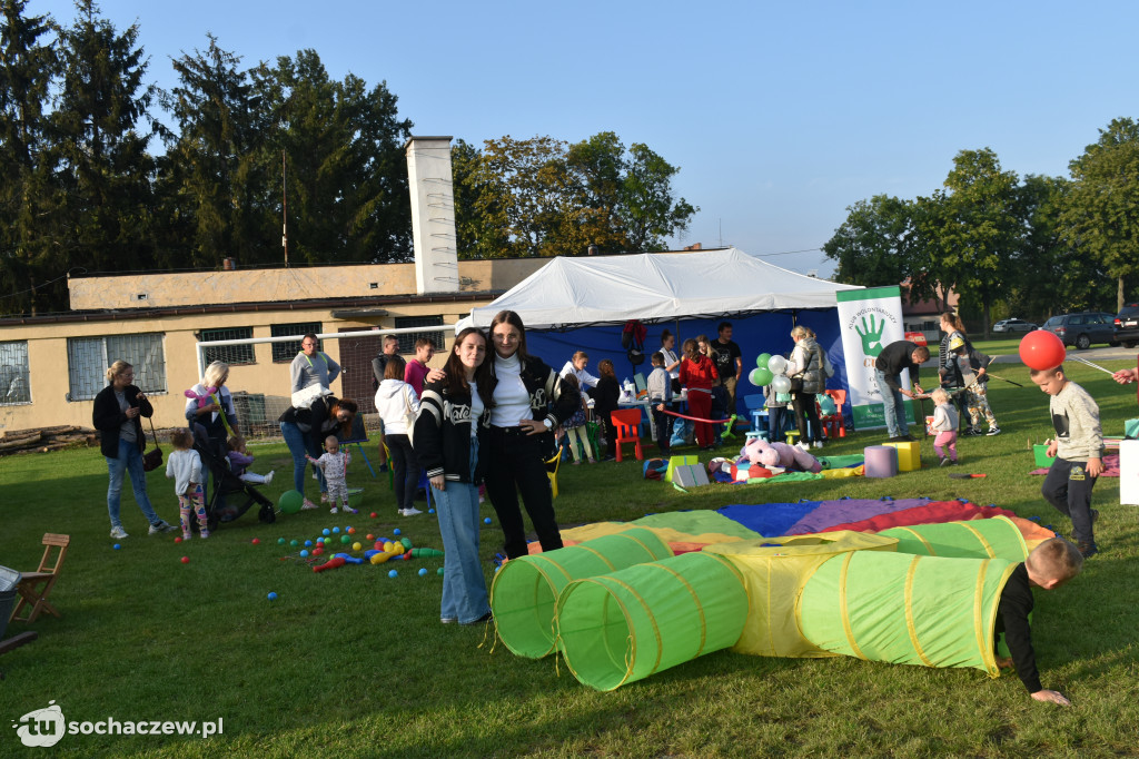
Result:
<svg viewBox="0 0 1139 759"><path fill-rule="evenodd" d="M566 664L598 691L727 648L748 615L739 570L707 553L575 580L557 606Z"/></svg>

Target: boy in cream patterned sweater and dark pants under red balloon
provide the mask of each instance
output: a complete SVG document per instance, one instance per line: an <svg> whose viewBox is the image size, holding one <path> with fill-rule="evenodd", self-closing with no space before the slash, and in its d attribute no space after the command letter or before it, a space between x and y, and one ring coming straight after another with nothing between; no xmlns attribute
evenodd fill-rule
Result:
<svg viewBox="0 0 1139 759"><path fill-rule="evenodd" d="M1075 538L1084 558L1098 553L1092 531L1099 512L1091 507L1091 489L1104 473L1104 435L1099 427L1099 406L1088 391L1067 378L1064 365L1033 369L1032 381L1051 395L1048 410L1056 430L1049 441L1048 458L1056 457L1040 489L1041 495L1072 520Z"/></svg>

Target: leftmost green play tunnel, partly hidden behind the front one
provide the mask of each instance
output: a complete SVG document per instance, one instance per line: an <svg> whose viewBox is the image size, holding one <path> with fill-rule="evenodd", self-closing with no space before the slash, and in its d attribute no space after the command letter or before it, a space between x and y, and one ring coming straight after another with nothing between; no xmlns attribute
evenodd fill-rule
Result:
<svg viewBox="0 0 1139 759"><path fill-rule="evenodd" d="M540 659L552 653L555 604L567 583L670 556L672 549L655 532L630 529L510 560L491 585L498 635L519 656Z"/></svg>

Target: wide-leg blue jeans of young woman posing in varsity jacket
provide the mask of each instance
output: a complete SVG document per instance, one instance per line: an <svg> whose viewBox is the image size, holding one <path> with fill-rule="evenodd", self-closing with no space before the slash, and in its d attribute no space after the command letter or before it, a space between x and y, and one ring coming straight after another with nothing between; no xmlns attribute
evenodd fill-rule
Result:
<svg viewBox="0 0 1139 759"><path fill-rule="evenodd" d="M472 456L474 472L476 455ZM444 482L432 489L443 537L443 601L440 619L474 622L491 610L486 578L478 563L478 485Z"/></svg>

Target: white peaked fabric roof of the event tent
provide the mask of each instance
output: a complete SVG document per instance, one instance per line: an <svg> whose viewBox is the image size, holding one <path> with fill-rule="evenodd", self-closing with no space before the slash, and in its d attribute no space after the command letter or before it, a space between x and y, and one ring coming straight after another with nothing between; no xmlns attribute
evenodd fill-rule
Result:
<svg viewBox="0 0 1139 759"><path fill-rule="evenodd" d="M836 305L861 289L781 269L729 247L685 253L555 258L460 325L489 327L503 309L526 327L558 328L629 319L663 321Z"/></svg>

